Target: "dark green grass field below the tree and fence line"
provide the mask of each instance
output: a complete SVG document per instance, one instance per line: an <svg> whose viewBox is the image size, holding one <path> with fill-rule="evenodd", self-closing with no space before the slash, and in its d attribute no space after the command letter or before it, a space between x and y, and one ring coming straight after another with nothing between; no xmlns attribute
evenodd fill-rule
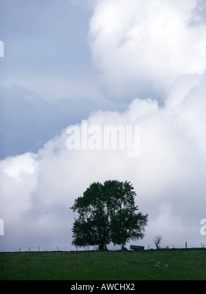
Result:
<svg viewBox="0 0 206 294"><path fill-rule="evenodd" d="M206 280L206 250L1 252L0 280Z"/></svg>

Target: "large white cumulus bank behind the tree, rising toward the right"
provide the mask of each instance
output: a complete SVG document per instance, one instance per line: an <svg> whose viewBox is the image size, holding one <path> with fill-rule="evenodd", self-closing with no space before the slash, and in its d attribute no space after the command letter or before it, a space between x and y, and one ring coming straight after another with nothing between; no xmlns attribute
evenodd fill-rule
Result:
<svg viewBox="0 0 206 294"><path fill-rule="evenodd" d="M38 154L2 160L0 215L5 236L1 247L18 248L22 243L71 247L75 215L69 207L89 184L108 179L133 183L139 210L149 215L142 243L151 244L155 234L165 236L166 245L185 238L201 243L206 188L204 81L203 76L192 89L181 92L179 80L162 108L157 101L137 98L125 112L99 111L89 116L88 125L140 125L141 153L136 158L118 149L68 150L69 135L62 130Z"/></svg>

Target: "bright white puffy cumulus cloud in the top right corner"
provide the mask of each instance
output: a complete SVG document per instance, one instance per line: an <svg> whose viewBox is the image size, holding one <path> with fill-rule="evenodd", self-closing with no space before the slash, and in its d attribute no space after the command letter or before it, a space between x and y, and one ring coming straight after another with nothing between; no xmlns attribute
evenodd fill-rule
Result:
<svg viewBox="0 0 206 294"><path fill-rule="evenodd" d="M191 25L195 8L195 0L99 2L89 44L111 97L161 93L179 75L203 73L205 23Z"/></svg>

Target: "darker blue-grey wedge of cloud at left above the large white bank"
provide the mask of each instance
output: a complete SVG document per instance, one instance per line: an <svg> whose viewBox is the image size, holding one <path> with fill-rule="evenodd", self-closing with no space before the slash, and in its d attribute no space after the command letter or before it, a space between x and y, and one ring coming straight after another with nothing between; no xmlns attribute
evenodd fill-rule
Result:
<svg viewBox="0 0 206 294"><path fill-rule="evenodd" d="M124 103L87 99L45 101L34 91L19 86L0 87L1 158L37 152L50 138L94 110L122 110Z"/></svg>

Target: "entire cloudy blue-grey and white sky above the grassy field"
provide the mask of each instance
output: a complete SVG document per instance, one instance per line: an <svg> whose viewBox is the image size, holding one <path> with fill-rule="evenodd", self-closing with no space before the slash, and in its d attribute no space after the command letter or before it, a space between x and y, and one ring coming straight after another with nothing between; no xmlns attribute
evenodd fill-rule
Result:
<svg viewBox="0 0 206 294"><path fill-rule="evenodd" d="M70 207L106 180L148 214L132 244L206 245L204 0L1 1L0 40L0 251L75 250ZM95 149L105 125L138 125L138 155Z"/></svg>

